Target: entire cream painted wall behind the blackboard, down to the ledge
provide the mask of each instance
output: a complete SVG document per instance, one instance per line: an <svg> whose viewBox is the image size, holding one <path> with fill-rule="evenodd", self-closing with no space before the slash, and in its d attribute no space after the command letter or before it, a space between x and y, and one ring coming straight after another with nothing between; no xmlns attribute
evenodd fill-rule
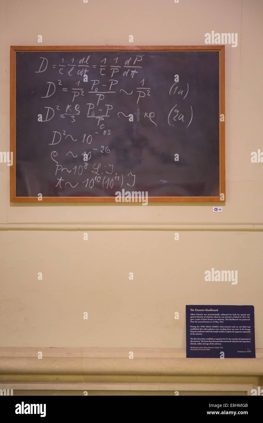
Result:
<svg viewBox="0 0 263 423"><path fill-rule="evenodd" d="M9 168L0 164L0 346L184 348L185 305L199 303L254 305L263 348L263 164L250 161L263 150L262 13L261 0L0 1L1 151L9 151L10 45L37 45L39 34L43 45L127 45L130 34L134 45L203 45L211 30L238 33L238 47L225 48L222 213L211 203L10 204ZM53 224L64 230L38 230ZM89 240L70 224L89 225ZM105 224L114 226L100 230ZM210 230L181 230L174 241L179 224ZM229 230L206 226L218 224ZM13 225L19 230L6 230ZM237 285L205 282L211 267L238 270Z"/></svg>

